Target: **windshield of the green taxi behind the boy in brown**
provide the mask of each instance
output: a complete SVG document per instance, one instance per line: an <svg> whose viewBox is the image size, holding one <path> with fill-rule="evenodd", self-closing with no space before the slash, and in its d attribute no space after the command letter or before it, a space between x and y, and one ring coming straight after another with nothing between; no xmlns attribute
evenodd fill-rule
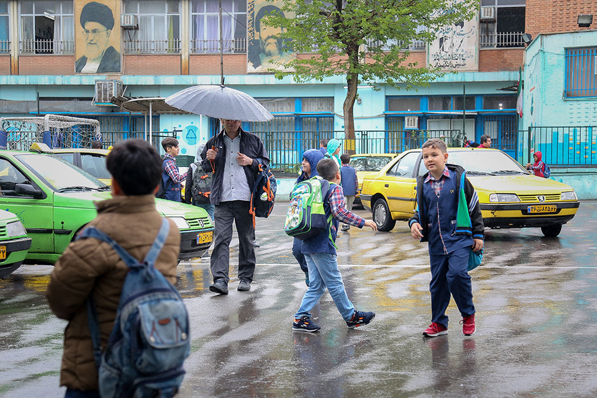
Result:
<svg viewBox="0 0 597 398"><path fill-rule="evenodd" d="M106 184L93 175L64 161L58 156L30 153L17 155L30 171L44 180L51 189L66 192L69 190L105 190Z"/></svg>

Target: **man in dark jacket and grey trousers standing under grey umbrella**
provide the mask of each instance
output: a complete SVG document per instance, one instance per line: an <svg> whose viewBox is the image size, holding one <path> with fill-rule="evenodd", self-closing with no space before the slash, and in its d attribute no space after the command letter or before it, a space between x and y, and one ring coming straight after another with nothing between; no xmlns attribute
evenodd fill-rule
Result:
<svg viewBox="0 0 597 398"><path fill-rule="evenodd" d="M267 152L257 135L244 131L241 122L221 119L224 129L207 141L201 152L204 171L214 169L210 200L214 209L215 237L211 252L210 291L228 294L232 224L239 240L238 291L248 291L255 270L253 217L249 214L251 190L259 163L269 165Z"/></svg>

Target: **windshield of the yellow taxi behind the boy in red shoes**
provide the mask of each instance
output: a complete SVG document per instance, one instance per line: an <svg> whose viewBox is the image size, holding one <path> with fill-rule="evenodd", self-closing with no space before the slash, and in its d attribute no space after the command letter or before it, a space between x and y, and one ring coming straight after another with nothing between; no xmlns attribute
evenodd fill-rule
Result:
<svg viewBox="0 0 597 398"><path fill-rule="evenodd" d="M529 174L514 159L503 152L493 150L448 150L448 163L463 166L468 175L516 175ZM427 170L421 161L419 175Z"/></svg>

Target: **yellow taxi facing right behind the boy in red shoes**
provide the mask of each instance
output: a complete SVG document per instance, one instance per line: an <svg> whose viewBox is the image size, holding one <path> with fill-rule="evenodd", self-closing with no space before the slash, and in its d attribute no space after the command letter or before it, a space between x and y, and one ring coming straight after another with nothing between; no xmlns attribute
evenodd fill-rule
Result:
<svg viewBox="0 0 597 398"><path fill-rule="evenodd" d="M558 236L580 202L567 184L536 177L497 149L448 148L448 163L466 170L479 196L485 227L540 227L545 236ZM365 176L361 202L373 212L381 231L396 220L408 220L416 209L417 177L427 172L421 150L402 152L375 174Z"/></svg>

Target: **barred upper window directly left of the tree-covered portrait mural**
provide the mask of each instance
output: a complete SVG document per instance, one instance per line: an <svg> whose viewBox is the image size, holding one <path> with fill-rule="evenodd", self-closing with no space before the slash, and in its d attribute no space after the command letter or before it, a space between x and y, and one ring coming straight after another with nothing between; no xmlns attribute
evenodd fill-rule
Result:
<svg viewBox="0 0 597 398"><path fill-rule="evenodd" d="M191 51L220 52L219 0L193 0L191 4ZM222 0L222 38L224 53L247 52L247 1Z"/></svg>

